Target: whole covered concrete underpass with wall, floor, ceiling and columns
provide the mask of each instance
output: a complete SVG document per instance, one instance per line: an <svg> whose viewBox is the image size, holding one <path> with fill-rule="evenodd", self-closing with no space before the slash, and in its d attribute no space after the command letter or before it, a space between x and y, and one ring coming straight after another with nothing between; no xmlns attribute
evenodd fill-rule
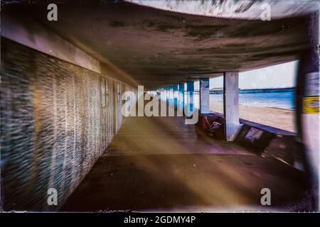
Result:
<svg viewBox="0 0 320 227"><path fill-rule="evenodd" d="M2 211L268 210L265 187L274 211L319 211L319 3L266 1L264 21L261 2L155 2L53 1L49 20L1 1ZM293 60L297 133L240 119L239 73Z"/></svg>

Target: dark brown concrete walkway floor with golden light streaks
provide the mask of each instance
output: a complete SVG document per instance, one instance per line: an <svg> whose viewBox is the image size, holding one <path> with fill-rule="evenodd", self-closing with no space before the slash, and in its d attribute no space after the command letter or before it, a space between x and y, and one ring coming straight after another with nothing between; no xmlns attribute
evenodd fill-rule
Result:
<svg viewBox="0 0 320 227"><path fill-rule="evenodd" d="M272 206L260 205L270 188ZM130 117L62 211L297 211L306 175L178 117Z"/></svg>

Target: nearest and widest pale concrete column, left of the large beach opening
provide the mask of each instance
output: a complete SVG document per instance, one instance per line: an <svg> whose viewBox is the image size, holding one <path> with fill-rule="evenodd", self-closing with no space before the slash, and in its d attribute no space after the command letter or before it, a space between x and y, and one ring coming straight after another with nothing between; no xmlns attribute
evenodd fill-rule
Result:
<svg viewBox="0 0 320 227"><path fill-rule="evenodd" d="M223 109L225 116L225 137L233 141L240 131L239 122L239 72L223 74Z"/></svg>

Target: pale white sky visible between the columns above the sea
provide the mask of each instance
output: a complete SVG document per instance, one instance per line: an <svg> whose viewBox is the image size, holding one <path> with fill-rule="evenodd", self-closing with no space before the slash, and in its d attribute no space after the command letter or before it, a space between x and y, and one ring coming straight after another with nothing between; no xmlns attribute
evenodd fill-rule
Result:
<svg viewBox="0 0 320 227"><path fill-rule="evenodd" d="M264 89L295 87L298 61L273 65L258 70L240 72L240 89ZM210 89L223 87L223 77L210 79ZM199 89L199 82L194 84L195 90Z"/></svg>

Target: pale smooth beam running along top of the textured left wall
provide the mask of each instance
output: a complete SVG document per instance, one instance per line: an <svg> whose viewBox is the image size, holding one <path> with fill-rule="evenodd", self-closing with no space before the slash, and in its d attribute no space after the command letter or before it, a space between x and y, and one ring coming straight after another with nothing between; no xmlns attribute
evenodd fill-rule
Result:
<svg viewBox="0 0 320 227"><path fill-rule="evenodd" d="M2 12L1 12L2 13ZM31 18L13 16L6 13L6 20L2 20L1 36L14 40L16 43L57 57L60 60L84 67L87 70L101 73L100 62L87 55L68 40L53 33L43 24ZM2 15L1 15L2 18ZM23 21L21 20L23 18ZM35 33L35 31L41 31Z"/></svg>

